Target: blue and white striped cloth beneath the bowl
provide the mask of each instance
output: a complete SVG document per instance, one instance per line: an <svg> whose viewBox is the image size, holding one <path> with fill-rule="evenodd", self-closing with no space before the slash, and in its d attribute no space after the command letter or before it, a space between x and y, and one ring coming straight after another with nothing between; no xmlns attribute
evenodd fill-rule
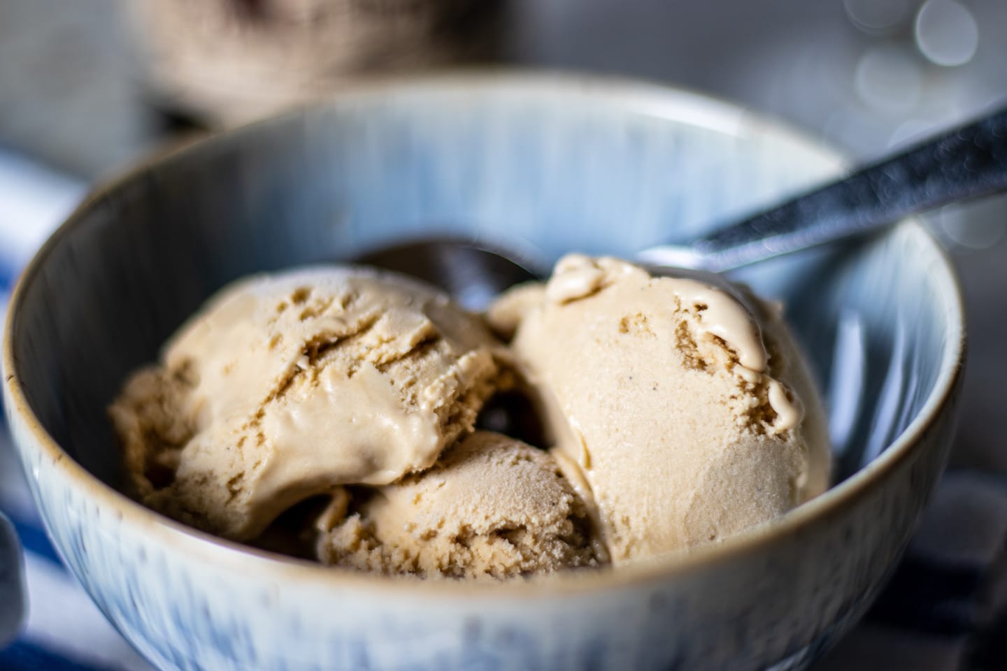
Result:
<svg viewBox="0 0 1007 671"><path fill-rule="evenodd" d="M0 152L0 304L17 271L83 193L84 185ZM0 670L150 669L63 567L5 432L0 512L23 546L29 604L20 636L0 649ZM814 666L847 669L1007 670L1007 479L946 475L877 604Z"/></svg>

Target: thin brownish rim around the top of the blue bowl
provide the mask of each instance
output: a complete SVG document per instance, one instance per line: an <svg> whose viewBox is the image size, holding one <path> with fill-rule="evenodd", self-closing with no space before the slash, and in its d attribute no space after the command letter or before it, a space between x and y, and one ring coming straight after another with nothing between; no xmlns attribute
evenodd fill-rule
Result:
<svg viewBox="0 0 1007 671"><path fill-rule="evenodd" d="M211 562L221 570L237 569L244 573L267 572L278 578L293 579L313 589L325 585L335 590L366 590L398 596L438 597L443 600L470 599L474 596L493 598L549 599L557 595L575 595L645 585L654 581L683 578L731 561L744 560L765 550L788 536L800 534L826 519L839 515L845 508L864 498L873 486L886 479L919 449L919 438L942 415L958 387L964 368L965 310L961 284L947 251L915 219L906 219L898 227L909 227L921 234L922 240L936 253L947 280L945 297L949 305L950 347L941 362L938 379L921 409L908 427L867 466L846 480L834 485L822 495L787 512L777 520L712 545L700 546L687 554L671 553L653 560L630 563L618 568L558 571L550 575L533 576L524 580L445 580L416 579L412 576L388 576L367 572L333 569L317 562L259 550L248 545L220 538L156 513L112 488L92 475L64 452L42 427L25 396L14 358L15 324L21 316L26 288L33 282L46 259L63 237L82 224L85 215L108 195L142 177L157 166L184 160L204 148L240 141L246 134L255 134L270 125L283 125L312 111L351 105L354 102L380 100L388 95L412 94L421 98L438 93L469 93L487 95L518 90L523 95L553 92L563 97L591 96L599 103L614 105L627 113L648 114L667 121L699 126L721 133L767 133L794 142L803 148L834 158L837 168L845 164L843 154L827 143L812 138L789 124L773 121L738 105L706 94L687 91L662 82L638 77L585 74L571 71L543 71L512 68L489 68L419 75L380 77L361 82L308 105L302 105L281 115L245 124L236 129L213 133L196 141L183 141L167 149L153 152L133 167L93 189L65 221L49 236L25 267L11 293L4 323L2 364L6 411L11 422L33 439L42 460L58 469L67 482L85 496L100 502L106 510L116 511L123 524L142 529L172 550ZM12 431L17 437L17 432ZM28 451L19 437L14 441L19 451ZM22 462L25 455L22 455ZM29 474L29 477L31 475ZM37 488L32 487L36 493ZM36 494L37 497L37 494ZM48 522L45 521L46 526ZM58 547L56 548L59 549Z"/></svg>

